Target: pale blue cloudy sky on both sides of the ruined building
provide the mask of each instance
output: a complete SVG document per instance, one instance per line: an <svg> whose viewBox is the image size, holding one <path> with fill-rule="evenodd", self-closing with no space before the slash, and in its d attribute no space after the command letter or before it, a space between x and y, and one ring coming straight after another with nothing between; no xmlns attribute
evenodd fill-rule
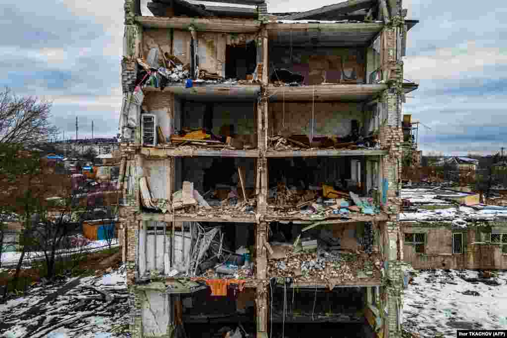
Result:
<svg viewBox="0 0 507 338"><path fill-rule="evenodd" d="M143 1L143 14L149 15ZM270 12L310 10L337 0L271 0ZM486 6L487 4L487 6ZM424 152L492 154L507 144L507 5L404 0L409 32L405 79L420 84L405 113ZM503 19L502 19L503 18ZM503 22L503 23L502 23ZM121 103L123 0L3 0L0 84L53 101L54 122L75 137L117 132Z"/></svg>

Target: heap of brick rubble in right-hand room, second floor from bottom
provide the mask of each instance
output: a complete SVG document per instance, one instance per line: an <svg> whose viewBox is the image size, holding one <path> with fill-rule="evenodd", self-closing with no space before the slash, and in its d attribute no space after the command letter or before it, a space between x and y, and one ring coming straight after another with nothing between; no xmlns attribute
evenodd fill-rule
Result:
<svg viewBox="0 0 507 338"><path fill-rule="evenodd" d="M365 222L362 229L352 226L305 231L287 242L278 224L270 226L268 275L293 278L295 282L319 282L334 286L361 279L380 279L383 261L374 253L373 229ZM350 231L360 238L349 236ZM274 240L285 239L284 242Z"/></svg>

